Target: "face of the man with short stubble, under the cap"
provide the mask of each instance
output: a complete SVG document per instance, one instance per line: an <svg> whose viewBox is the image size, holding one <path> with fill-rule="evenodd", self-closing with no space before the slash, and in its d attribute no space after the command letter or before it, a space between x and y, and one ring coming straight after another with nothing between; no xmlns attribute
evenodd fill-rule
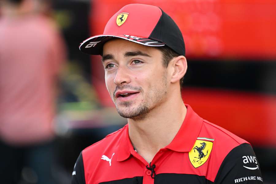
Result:
<svg viewBox="0 0 276 184"><path fill-rule="evenodd" d="M104 44L105 84L118 113L143 119L166 100L167 70L162 52L123 39Z"/></svg>

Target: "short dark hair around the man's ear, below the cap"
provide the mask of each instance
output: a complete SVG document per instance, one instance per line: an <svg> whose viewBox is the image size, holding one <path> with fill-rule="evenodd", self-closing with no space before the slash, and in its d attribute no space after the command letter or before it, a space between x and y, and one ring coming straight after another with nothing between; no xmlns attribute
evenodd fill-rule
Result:
<svg viewBox="0 0 276 184"><path fill-rule="evenodd" d="M169 48L168 46L162 46L162 47L155 47L157 48L159 51L162 52L163 54L163 67L167 68L170 61L174 58L174 57L178 57L180 56L178 53L174 52L171 48ZM184 80L184 76L179 80L180 83L180 89L182 89L182 83Z"/></svg>

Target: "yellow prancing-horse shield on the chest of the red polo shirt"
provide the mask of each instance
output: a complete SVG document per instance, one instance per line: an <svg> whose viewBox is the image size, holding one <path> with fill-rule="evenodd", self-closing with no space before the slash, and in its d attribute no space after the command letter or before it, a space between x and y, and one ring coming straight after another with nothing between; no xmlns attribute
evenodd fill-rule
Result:
<svg viewBox="0 0 276 184"><path fill-rule="evenodd" d="M192 165L197 168L204 164L213 148L213 142L196 140L193 149L189 152L189 159Z"/></svg>

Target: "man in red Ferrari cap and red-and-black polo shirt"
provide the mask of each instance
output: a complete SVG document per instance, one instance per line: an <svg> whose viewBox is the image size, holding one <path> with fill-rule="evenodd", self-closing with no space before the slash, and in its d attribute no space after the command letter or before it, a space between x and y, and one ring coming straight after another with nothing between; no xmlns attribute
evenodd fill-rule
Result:
<svg viewBox="0 0 276 184"><path fill-rule="evenodd" d="M160 8L124 6L80 50L102 55L106 87L128 124L82 151L72 184L263 182L247 141L183 103L184 41Z"/></svg>

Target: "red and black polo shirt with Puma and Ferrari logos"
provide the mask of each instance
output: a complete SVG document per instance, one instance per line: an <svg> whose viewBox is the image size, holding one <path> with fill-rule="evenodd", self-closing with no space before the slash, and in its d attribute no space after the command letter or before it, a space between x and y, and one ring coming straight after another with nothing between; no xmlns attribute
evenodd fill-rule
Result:
<svg viewBox="0 0 276 184"><path fill-rule="evenodd" d="M178 133L151 163L134 150L125 125L81 152L72 184L263 183L247 141L186 107Z"/></svg>

